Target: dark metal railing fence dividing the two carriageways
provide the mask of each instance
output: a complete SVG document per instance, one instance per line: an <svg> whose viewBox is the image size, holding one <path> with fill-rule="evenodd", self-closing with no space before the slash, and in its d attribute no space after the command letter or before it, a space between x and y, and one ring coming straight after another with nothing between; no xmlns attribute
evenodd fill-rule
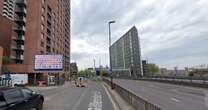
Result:
<svg viewBox="0 0 208 110"><path fill-rule="evenodd" d="M111 82L108 79L103 78L103 81L106 82L108 85L111 84ZM119 93L119 95L129 104L131 104L136 110L162 110L156 105L151 104L150 102L140 98L136 94L115 83L113 83L113 87Z"/></svg>

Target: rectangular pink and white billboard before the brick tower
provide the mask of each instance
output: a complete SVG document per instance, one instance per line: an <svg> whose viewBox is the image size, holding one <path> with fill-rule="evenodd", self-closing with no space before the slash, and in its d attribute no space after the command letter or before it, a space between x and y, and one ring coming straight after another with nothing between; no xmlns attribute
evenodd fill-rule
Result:
<svg viewBox="0 0 208 110"><path fill-rule="evenodd" d="M63 55L35 55L35 71L62 71Z"/></svg>

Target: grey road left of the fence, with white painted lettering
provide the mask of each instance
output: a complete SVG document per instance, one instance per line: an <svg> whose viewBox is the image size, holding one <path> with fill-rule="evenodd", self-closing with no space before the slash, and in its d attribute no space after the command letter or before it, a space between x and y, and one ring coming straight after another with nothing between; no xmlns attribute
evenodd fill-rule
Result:
<svg viewBox="0 0 208 110"><path fill-rule="evenodd" d="M67 83L36 90L45 97L43 110L114 110L109 95L99 82L89 81L86 88Z"/></svg>

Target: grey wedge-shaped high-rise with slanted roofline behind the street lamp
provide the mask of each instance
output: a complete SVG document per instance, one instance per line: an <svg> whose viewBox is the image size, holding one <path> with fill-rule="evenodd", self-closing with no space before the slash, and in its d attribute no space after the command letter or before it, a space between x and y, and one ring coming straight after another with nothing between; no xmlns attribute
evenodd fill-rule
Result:
<svg viewBox="0 0 208 110"><path fill-rule="evenodd" d="M142 76L140 43L136 27L132 27L111 47L111 66L118 76Z"/></svg>

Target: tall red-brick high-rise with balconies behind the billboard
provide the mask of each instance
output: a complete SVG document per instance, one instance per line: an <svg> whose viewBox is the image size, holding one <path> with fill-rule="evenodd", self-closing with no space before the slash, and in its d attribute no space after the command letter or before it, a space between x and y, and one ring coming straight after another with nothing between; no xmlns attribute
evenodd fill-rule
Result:
<svg viewBox="0 0 208 110"><path fill-rule="evenodd" d="M10 50L7 55L10 62L3 70L28 74L31 84L37 80L48 81L49 75L59 78L69 74L70 0L0 0L0 14L14 23L10 38L1 36L11 39L10 46L3 47ZM37 54L62 54L64 72L35 72L34 56Z"/></svg>

